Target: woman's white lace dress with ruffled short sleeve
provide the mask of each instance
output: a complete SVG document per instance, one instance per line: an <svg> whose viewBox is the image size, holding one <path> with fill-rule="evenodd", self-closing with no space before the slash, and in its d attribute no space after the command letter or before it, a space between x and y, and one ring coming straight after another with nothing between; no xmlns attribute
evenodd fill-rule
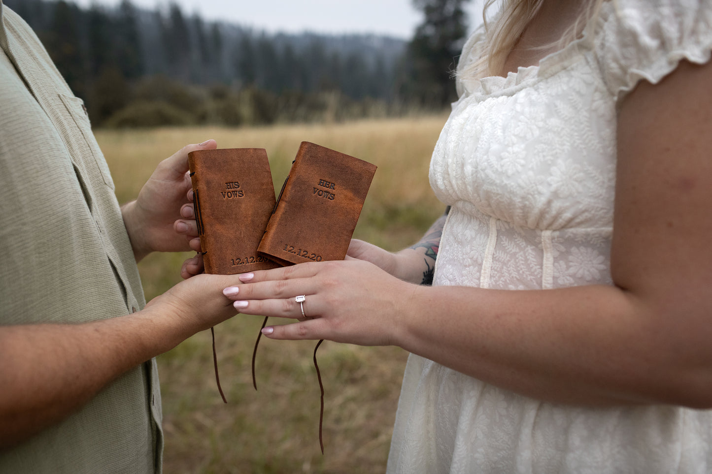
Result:
<svg viewBox="0 0 712 474"><path fill-rule="evenodd" d="M617 103L712 48L712 0L616 3L538 66L458 84L430 169L452 206L435 285L611 283ZM712 412L548 404L411 355L388 472L711 473Z"/></svg>

